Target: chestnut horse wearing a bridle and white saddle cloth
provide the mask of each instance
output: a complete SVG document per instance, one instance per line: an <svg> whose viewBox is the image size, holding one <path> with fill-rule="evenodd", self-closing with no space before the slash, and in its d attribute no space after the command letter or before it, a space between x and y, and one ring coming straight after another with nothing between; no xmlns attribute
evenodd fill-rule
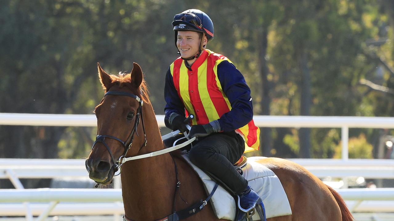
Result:
<svg viewBox="0 0 394 221"><path fill-rule="evenodd" d="M109 75L98 65L105 95L95 108L97 139L85 166L97 184L121 174L124 220L171 220L174 211L206 199L203 182L177 154L165 153L124 163L126 157L165 149L141 67L129 74ZM117 160L119 159L119 160ZM258 163L271 169L282 183L292 215L268 221L353 221L342 197L302 166L281 158ZM210 203L188 221L216 221ZM175 220L175 219L174 219Z"/></svg>

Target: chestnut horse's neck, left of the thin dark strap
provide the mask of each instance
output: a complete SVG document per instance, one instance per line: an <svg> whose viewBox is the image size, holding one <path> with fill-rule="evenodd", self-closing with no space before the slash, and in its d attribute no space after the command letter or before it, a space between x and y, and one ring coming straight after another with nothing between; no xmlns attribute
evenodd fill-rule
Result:
<svg viewBox="0 0 394 221"><path fill-rule="evenodd" d="M143 147L138 155L164 148L153 109L150 104L144 105L148 106L143 109L147 146ZM143 138L141 134L139 137ZM121 178L127 217L134 220L154 220L158 219L154 214L169 215L172 212L177 181L171 155L126 162L122 166ZM152 202L155 205L152 205ZM140 217L141 214L144 216Z"/></svg>

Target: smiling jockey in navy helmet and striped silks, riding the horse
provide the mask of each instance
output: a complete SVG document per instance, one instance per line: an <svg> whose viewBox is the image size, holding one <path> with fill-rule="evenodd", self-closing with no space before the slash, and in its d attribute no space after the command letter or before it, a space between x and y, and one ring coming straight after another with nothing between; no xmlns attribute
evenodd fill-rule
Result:
<svg viewBox="0 0 394 221"><path fill-rule="evenodd" d="M245 142L259 147L250 89L227 57L206 49L214 38L208 15L189 9L175 15L172 25L180 57L165 77L165 125L183 133L186 116L195 116L187 122L189 137L198 139L190 150L191 162L227 185L238 195L240 210L247 212L261 199L233 164L245 151ZM237 220L244 216L240 213Z"/></svg>

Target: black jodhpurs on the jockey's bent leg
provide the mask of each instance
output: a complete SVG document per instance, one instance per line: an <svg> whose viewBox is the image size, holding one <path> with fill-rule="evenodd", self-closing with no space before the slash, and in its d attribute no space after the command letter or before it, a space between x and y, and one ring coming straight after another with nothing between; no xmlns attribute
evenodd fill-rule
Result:
<svg viewBox="0 0 394 221"><path fill-rule="evenodd" d="M199 168L212 173L230 190L240 195L248 182L234 168L245 151L245 142L240 134L231 132L213 133L200 137L190 149L190 161Z"/></svg>

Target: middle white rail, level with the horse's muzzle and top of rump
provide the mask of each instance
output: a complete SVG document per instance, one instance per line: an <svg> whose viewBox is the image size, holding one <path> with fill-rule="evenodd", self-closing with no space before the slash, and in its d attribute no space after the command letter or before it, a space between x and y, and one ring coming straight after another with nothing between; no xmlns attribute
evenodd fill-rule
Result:
<svg viewBox="0 0 394 221"><path fill-rule="evenodd" d="M377 159L289 159L304 166L319 178L364 177L394 179L394 160ZM9 179L12 171L19 179L59 177L86 178L84 159L4 159L0 158L0 179Z"/></svg>

